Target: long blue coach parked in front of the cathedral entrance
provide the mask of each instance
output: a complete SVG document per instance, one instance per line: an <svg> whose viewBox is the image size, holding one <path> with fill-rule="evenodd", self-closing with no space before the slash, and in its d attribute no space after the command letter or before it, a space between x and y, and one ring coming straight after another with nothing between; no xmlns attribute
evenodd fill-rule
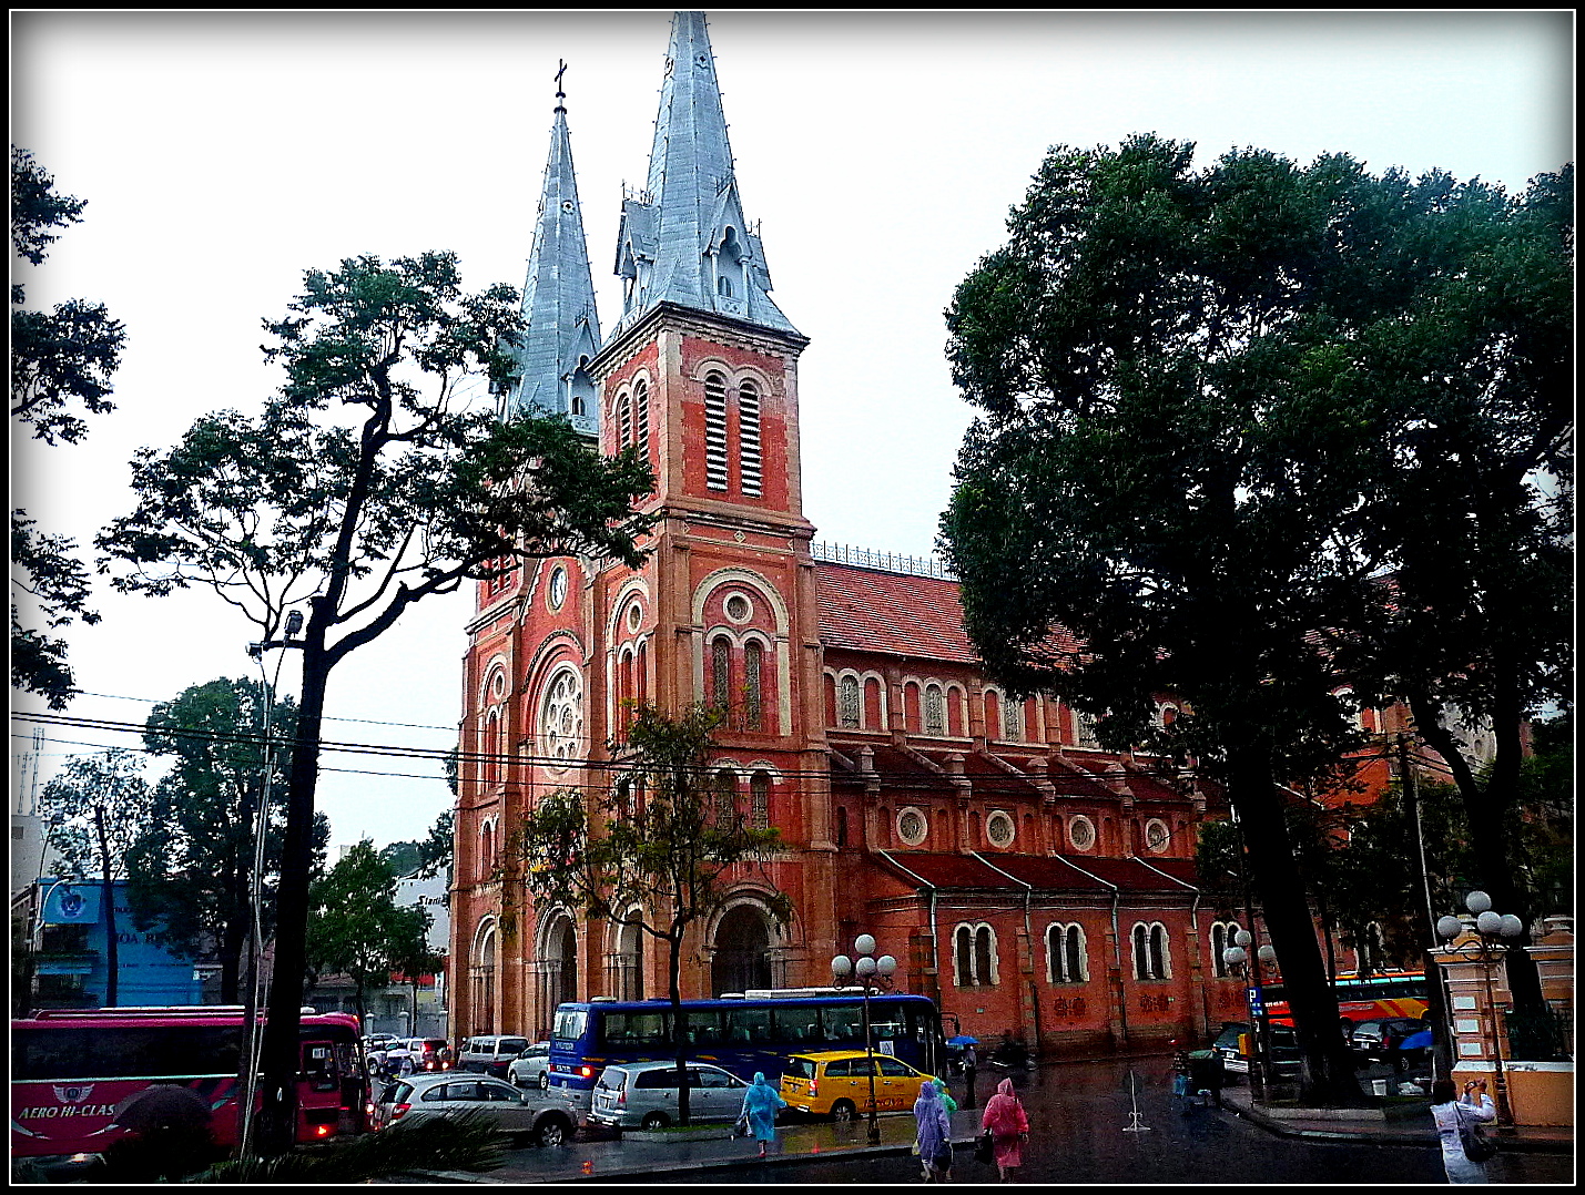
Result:
<svg viewBox="0 0 1585 1195"><path fill-rule="evenodd" d="M688 1057L740 1079L764 1071L777 1086L789 1054L864 1049L864 998L840 989L748 992L683 1000L682 1008ZM877 1054L891 1054L926 1075L940 1075L946 1065L941 1014L926 995L872 995L870 1033ZM580 1114L588 1113L594 1081L607 1065L674 1057L670 1000L596 997L556 1006L550 1086Z"/></svg>

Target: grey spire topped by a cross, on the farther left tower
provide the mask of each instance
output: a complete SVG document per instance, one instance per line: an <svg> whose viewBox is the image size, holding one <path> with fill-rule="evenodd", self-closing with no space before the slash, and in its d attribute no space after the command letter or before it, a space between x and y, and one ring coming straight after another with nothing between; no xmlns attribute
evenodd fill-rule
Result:
<svg viewBox="0 0 1585 1195"><path fill-rule="evenodd" d="M572 173L572 139L556 71L556 113L550 127L550 158L539 198L534 249L523 282L523 317L528 330L515 352L517 380L502 414L523 410L564 414L580 431L594 434L594 384L583 366L599 349L599 314L594 311L594 279L583 239L583 211Z"/></svg>

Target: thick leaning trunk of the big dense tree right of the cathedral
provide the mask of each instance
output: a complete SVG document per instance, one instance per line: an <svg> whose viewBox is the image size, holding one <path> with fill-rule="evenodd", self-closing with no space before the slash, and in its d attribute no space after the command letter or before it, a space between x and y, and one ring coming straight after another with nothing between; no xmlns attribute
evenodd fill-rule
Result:
<svg viewBox="0 0 1585 1195"><path fill-rule="evenodd" d="M1227 789L1244 829L1266 932L1282 960L1282 989L1303 1060L1301 1098L1358 1103L1354 1057L1338 1032L1338 997L1327 983L1270 756L1258 746L1230 748Z"/></svg>

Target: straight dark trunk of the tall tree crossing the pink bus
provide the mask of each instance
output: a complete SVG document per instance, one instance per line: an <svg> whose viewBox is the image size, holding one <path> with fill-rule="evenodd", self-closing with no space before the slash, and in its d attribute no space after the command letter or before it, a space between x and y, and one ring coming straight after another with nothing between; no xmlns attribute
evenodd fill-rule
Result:
<svg viewBox="0 0 1585 1195"><path fill-rule="evenodd" d="M298 705L292 775L287 783L287 826L276 895L276 957L269 983L262 1070L265 1103L260 1152L277 1157L296 1140L296 1076L301 1046L300 1010L307 973L307 889L314 865L314 789L319 783L319 735L325 712L330 662L325 658L325 602L314 602L303 642L303 699Z"/></svg>

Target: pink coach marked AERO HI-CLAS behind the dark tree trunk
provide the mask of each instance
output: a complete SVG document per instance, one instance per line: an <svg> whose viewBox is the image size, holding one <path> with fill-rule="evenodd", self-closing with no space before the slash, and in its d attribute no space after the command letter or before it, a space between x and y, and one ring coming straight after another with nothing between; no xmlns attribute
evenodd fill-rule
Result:
<svg viewBox="0 0 1585 1195"><path fill-rule="evenodd" d="M304 1011L301 1041L298 1141L363 1132L358 1019ZM211 1140L231 1147L241 1070L241 1006L60 1008L13 1021L11 1159L36 1159L52 1174L92 1168L128 1132L117 1109L160 1086L198 1097L181 1098L192 1109L201 1101Z"/></svg>

